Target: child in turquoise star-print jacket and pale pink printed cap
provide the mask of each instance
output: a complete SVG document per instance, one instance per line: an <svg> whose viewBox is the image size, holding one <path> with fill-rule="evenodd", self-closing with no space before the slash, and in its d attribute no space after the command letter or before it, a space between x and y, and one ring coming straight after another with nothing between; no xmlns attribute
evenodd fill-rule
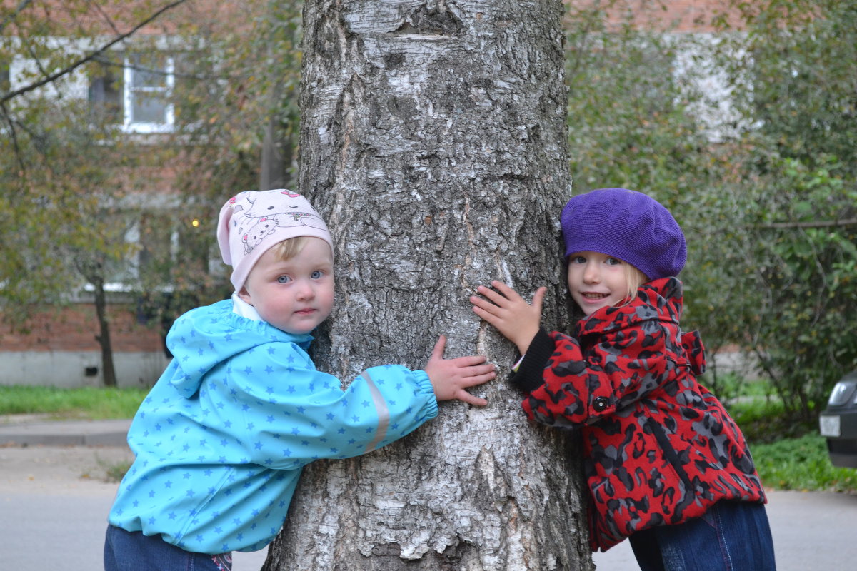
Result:
<svg viewBox="0 0 857 571"><path fill-rule="evenodd" d="M301 470L404 437L437 401L486 401L465 389L494 378L482 356L424 370L371 367L342 390L315 370L311 331L333 309L333 242L302 196L244 192L221 209L231 300L178 318L174 355L130 427L136 460L117 491L105 570L231 568L279 532Z"/></svg>

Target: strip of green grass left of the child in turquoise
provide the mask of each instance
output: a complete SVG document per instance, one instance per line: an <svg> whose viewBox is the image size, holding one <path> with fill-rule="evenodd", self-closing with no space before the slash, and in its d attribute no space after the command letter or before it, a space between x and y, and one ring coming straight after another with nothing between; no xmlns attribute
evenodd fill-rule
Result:
<svg viewBox="0 0 857 571"><path fill-rule="evenodd" d="M48 414L55 419L130 419L148 390L0 386L0 414Z"/></svg>

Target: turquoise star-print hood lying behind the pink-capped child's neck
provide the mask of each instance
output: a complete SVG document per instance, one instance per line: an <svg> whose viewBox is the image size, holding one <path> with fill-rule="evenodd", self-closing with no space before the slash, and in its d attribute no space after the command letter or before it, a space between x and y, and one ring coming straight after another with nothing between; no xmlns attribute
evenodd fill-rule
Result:
<svg viewBox="0 0 857 571"><path fill-rule="evenodd" d="M171 383L179 394L190 398L213 367L237 354L269 342L293 342L306 350L312 340L309 334L292 335L265 321L243 318L232 311L232 300L219 301L210 308L185 313L172 325L166 346L178 372Z"/></svg>

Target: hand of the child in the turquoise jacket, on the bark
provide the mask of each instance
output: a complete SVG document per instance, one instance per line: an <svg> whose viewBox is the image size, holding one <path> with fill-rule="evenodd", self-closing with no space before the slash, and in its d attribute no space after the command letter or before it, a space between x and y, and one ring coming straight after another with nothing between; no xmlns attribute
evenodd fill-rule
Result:
<svg viewBox="0 0 857 571"><path fill-rule="evenodd" d="M487 405L488 401L470 395L464 389L476 384L487 383L496 377L494 364L485 364L483 355L444 359L443 349L445 347L446 337L441 335L434 344L434 350L424 368L434 387L434 397L438 401L458 399L481 407Z"/></svg>

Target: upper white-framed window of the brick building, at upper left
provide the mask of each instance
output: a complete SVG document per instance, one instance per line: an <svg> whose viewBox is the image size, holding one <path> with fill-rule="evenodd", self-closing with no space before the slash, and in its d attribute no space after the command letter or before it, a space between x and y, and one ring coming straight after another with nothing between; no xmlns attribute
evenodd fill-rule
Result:
<svg viewBox="0 0 857 571"><path fill-rule="evenodd" d="M93 118L119 124L127 133L169 133L174 58L159 52L130 52L101 59L89 80Z"/></svg>

